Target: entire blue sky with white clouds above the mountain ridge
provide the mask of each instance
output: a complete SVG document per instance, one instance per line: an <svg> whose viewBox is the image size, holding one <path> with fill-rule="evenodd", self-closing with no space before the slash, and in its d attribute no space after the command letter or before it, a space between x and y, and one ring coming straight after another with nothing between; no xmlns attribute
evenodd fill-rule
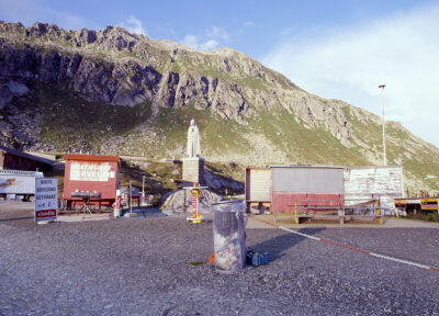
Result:
<svg viewBox="0 0 439 316"><path fill-rule="evenodd" d="M0 20L121 25L196 49L232 47L376 114L385 83L386 117L439 147L439 1L0 0Z"/></svg>

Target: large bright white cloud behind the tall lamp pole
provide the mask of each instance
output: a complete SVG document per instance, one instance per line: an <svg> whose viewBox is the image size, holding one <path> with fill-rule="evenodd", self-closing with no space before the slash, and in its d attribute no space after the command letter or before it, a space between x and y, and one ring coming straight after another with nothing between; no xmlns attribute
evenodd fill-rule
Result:
<svg viewBox="0 0 439 316"><path fill-rule="evenodd" d="M320 30L319 35L301 34L262 61L312 93L376 114L378 86L385 83L386 119L439 146L438 16L435 4L367 24Z"/></svg>

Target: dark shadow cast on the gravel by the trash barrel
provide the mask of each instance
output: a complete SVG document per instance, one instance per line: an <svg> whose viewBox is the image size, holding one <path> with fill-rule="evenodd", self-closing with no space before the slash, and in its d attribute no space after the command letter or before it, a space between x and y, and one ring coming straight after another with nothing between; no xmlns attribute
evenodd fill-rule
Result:
<svg viewBox="0 0 439 316"><path fill-rule="evenodd" d="M316 235L326 228L303 228L299 229L299 233L306 235ZM294 247L302 240L307 239L306 237L302 237L292 233L285 233L281 236L271 238L263 242L257 244L255 246L250 246L249 249L255 250L259 253L268 252L270 253L270 261L275 261L283 256L285 256L285 250Z"/></svg>

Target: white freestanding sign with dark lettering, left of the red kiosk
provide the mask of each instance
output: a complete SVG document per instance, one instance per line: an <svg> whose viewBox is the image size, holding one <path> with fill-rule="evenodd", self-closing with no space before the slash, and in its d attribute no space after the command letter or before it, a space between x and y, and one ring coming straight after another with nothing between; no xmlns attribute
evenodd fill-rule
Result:
<svg viewBox="0 0 439 316"><path fill-rule="evenodd" d="M58 212L56 178L35 179L35 222L53 221Z"/></svg>

